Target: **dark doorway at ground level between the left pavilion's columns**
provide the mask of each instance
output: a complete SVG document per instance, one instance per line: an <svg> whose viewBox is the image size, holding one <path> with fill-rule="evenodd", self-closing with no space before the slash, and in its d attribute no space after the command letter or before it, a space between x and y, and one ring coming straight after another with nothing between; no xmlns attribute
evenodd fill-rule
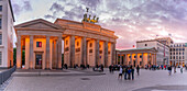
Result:
<svg viewBox="0 0 187 91"><path fill-rule="evenodd" d="M35 69L42 69L42 54L35 55Z"/></svg>

